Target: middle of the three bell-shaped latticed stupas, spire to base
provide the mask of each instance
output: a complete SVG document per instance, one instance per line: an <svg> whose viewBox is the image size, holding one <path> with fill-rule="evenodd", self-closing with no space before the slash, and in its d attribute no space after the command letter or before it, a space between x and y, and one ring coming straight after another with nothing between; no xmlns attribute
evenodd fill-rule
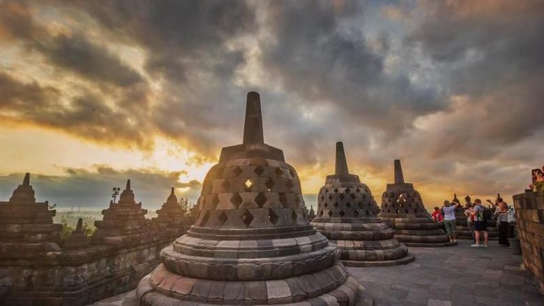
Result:
<svg viewBox="0 0 544 306"><path fill-rule="evenodd" d="M414 261L395 231L376 218L375 200L357 175L349 174L342 143L336 143L335 174L317 195L312 225L338 245L346 266L394 266Z"/></svg>

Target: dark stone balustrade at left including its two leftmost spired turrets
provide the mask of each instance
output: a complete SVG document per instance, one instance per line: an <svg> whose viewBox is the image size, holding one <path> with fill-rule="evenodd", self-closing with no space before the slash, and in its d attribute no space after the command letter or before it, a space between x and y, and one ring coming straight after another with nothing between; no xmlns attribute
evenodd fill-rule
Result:
<svg viewBox="0 0 544 306"><path fill-rule="evenodd" d="M172 242L155 230L127 188L110 202L91 239L82 220L64 241L54 210L36 202L30 175L0 202L0 305L88 305L134 289ZM176 226L173 224L172 226Z"/></svg>

